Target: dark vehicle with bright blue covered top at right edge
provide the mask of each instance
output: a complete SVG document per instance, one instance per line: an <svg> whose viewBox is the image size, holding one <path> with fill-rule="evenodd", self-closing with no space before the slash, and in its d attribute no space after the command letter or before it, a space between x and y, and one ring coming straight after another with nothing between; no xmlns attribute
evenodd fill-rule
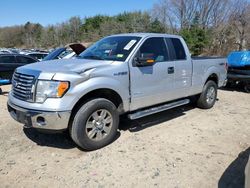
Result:
<svg viewBox="0 0 250 188"><path fill-rule="evenodd" d="M250 51L231 52L228 64L228 85L242 85L250 93Z"/></svg>

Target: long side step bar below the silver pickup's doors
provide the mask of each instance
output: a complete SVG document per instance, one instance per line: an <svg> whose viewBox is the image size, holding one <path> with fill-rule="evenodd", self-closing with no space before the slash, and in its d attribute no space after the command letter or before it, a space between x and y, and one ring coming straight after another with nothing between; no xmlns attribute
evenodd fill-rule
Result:
<svg viewBox="0 0 250 188"><path fill-rule="evenodd" d="M155 113L158 113L158 112L162 112L162 111L165 111L165 110L168 110L168 109L171 109L171 108L182 106L182 105L188 104L189 102L190 102L189 99L183 99L183 100L163 104L161 106L156 106L156 107L153 107L153 108L148 108L148 109L145 109L145 110L137 111L137 112L135 112L133 114L129 114L128 118L132 119L132 120L133 119L138 119L138 118L148 116L148 115L151 115L151 114L155 114Z"/></svg>

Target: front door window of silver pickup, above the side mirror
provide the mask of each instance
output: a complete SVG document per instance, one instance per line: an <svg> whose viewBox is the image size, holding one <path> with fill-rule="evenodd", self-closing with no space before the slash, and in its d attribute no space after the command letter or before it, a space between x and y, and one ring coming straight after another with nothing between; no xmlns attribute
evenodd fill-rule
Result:
<svg viewBox="0 0 250 188"><path fill-rule="evenodd" d="M147 39L140 47L137 55L139 57L152 58L155 62L168 60L167 47L164 39L161 37Z"/></svg>

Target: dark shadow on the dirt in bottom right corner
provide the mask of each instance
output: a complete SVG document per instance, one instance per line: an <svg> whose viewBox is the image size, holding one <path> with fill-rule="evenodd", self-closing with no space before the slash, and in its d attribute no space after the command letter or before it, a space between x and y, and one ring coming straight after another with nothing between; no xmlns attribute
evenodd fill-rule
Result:
<svg viewBox="0 0 250 188"><path fill-rule="evenodd" d="M244 188L245 167L250 155L250 147L241 152L222 174L218 188Z"/></svg>

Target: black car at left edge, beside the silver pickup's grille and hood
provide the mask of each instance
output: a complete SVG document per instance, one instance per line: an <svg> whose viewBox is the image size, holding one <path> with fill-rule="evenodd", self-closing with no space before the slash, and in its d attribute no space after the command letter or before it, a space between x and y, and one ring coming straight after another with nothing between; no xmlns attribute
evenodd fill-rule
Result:
<svg viewBox="0 0 250 188"><path fill-rule="evenodd" d="M0 54L0 79L11 79L17 67L35 63L38 60L21 54Z"/></svg>

